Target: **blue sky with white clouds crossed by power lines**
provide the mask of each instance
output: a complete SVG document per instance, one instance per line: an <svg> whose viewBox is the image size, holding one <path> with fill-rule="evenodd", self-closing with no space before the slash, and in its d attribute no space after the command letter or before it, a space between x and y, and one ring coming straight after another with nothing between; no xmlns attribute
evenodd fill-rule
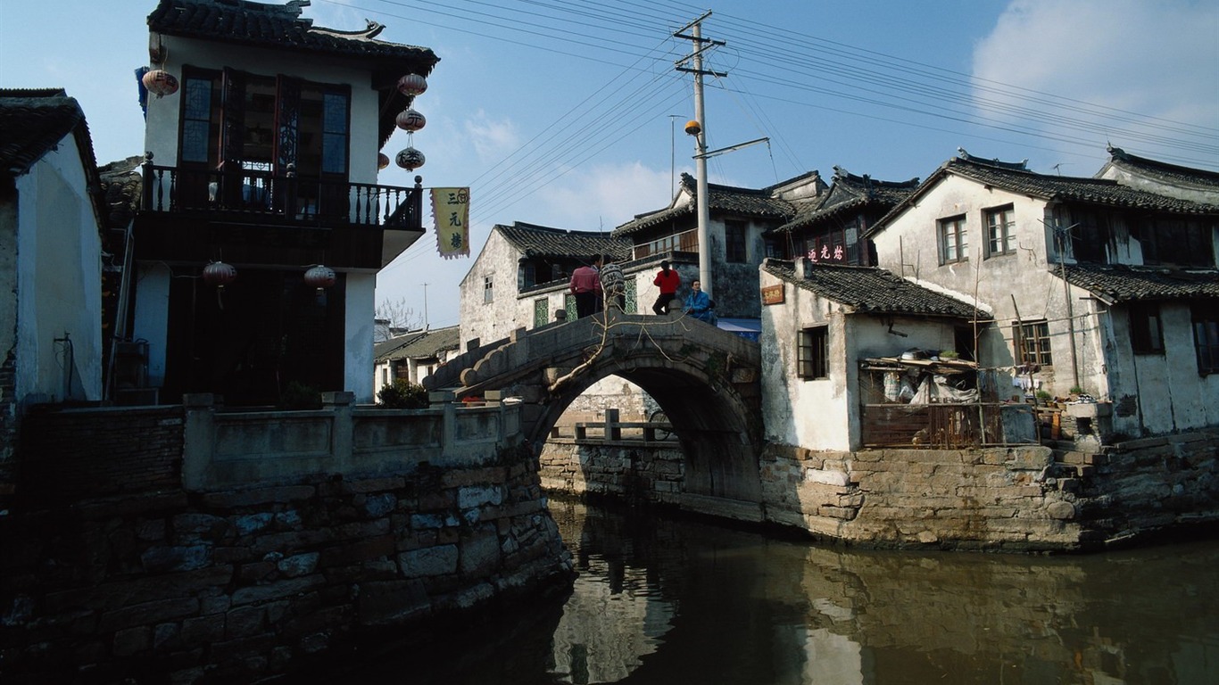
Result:
<svg viewBox="0 0 1219 685"><path fill-rule="evenodd" d="M65 88L99 163L143 151L134 71L156 0L0 2L0 87ZM709 16L705 16L709 12ZM835 167L926 178L969 154L1090 177L1107 145L1219 171L1214 0L312 0L316 26L385 24L440 57L396 132L427 156L379 183L471 188L469 258L434 232L386 266L377 302L458 323L458 285L494 224L603 230L666 207L694 173L694 79L675 68L702 18L711 183L766 188ZM722 43L722 44L720 44ZM430 216L425 207L424 215Z"/></svg>

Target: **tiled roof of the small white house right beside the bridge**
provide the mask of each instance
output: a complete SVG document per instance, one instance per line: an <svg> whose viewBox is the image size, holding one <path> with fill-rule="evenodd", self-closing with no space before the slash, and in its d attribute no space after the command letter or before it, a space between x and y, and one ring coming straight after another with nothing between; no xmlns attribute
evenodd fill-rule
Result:
<svg viewBox="0 0 1219 685"><path fill-rule="evenodd" d="M811 264L807 278L796 273L797 264L786 260L767 260L762 269L803 290L867 313L944 316L990 319L990 314L942 293L928 290L892 272L875 267Z"/></svg>

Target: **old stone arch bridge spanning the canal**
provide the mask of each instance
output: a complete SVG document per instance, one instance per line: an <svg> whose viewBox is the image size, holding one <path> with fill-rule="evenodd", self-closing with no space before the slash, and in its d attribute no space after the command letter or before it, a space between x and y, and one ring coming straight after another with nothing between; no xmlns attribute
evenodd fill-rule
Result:
<svg viewBox="0 0 1219 685"><path fill-rule="evenodd" d="M757 518L762 411L755 341L690 317L612 310L608 318L518 329L449 361L424 383L458 399L489 390L518 397L522 433L540 451L567 406L610 375L642 388L668 416L685 453L689 508Z"/></svg>

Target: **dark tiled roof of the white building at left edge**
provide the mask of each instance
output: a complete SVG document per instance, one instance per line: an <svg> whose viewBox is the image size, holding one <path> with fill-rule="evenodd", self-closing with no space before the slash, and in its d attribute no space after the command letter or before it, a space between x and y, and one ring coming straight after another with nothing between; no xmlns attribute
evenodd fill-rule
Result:
<svg viewBox="0 0 1219 685"><path fill-rule="evenodd" d="M0 173L26 173L72 133L83 135L78 139L85 156L82 162L91 172L98 163L93 158L84 112L74 98L57 88L0 90Z"/></svg>

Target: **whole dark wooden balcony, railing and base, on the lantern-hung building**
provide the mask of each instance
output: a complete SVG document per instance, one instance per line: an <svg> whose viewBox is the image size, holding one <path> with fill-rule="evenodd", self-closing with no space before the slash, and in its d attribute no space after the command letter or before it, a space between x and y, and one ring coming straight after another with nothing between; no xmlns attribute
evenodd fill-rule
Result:
<svg viewBox="0 0 1219 685"><path fill-rule="evenodd" d="M144 165L137 257L379 269L423 234L423 186L275 174L268 163L216 169Z"/></svg>

